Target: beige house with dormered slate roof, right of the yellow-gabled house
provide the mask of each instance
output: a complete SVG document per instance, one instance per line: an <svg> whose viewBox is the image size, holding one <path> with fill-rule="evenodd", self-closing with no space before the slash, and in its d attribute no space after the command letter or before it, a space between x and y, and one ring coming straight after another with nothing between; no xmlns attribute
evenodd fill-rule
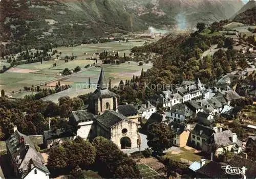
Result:
<svg viewBox="0 0 256 179"><path fill-rule="evenodd" d="M196 124L193 131L191 131L190 142L197 148L202 148L204 142L206 142L215 131L210 127Z"/></svg>

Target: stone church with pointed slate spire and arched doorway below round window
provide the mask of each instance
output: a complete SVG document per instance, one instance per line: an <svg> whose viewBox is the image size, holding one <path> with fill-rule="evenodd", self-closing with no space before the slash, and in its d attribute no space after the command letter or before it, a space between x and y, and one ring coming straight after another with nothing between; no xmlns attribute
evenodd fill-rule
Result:
<svg viewBox="0 0 256 179"><path fill-rule="evenodd" d="M89 97L88 110L72 111L70 115L70 122L78 126L77 136L84 140L102 136L120 149L139 147L138 123L118 113L117 95L106 84L101 68L97 88Z"/></svg>

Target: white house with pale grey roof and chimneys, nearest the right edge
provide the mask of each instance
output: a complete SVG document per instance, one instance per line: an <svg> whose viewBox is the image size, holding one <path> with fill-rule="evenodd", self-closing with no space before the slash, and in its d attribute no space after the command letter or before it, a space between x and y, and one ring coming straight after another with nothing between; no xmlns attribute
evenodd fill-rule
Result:
<svg viewBox="0 0 256 179"><path fill-rule="evenodd" d="M204 152L210 154L212 152L212 145L216 146L216 155L225 154L225 150L231 151L234 154L238 154L243 150L243 142L238 139L236 133L232 133L230 130L220 131L215 130L213 134L205 143L202 145Z"/></svg>

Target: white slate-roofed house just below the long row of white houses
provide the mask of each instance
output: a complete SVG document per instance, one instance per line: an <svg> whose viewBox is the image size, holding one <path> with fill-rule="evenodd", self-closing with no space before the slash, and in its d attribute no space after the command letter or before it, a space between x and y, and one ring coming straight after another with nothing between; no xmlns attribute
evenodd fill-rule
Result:
<svg viewBox="0 0 256 179"><path fill-rule="evenodd" d="M177 104L172 107L169 111L166 111L166 118L174 121L184 122L193 116L193 112L185 104Z"/></svg>

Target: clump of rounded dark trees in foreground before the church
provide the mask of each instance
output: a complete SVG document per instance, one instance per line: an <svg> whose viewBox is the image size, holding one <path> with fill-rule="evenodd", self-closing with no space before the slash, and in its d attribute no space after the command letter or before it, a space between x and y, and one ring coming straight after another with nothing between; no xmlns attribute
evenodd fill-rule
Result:
<svg viewBox="0 0 256 179"><path fill-rule="evenodd" d="M81 170L93 169L104 178L140 177L135 162L103 137L96 137L91 143L77 137L56 146L49 152L47 165L53 176L71 172L77 178Z"/></svg>

